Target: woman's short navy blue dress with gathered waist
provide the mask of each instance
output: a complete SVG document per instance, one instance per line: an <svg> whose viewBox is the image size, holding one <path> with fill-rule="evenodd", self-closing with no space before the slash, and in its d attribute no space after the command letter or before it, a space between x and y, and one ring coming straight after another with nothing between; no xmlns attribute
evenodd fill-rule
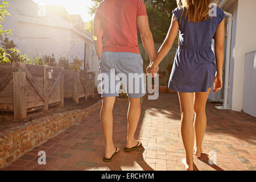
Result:
<svg viewBox="0 0 256 182"><path fill-rule="evenodd" d="M212 87L216 75L215 56L212 51L212 39L218 25L225 18L219 7L217 16L204 22L191 23L183 15L182 9L172 13L179 22L179 48L168 87L177 92L207 92Z"/></svg>

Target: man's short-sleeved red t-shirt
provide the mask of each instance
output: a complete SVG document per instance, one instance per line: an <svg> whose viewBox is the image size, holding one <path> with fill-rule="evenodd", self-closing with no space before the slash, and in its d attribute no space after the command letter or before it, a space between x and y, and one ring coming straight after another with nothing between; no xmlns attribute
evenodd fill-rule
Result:
<svg viewBox="0 0 256 182"><path fill-rule="evenodd" d="M96 9L94 19L104 31L103 52L139 53L137 16L147 16L142 0L105 0Z"/></svg>

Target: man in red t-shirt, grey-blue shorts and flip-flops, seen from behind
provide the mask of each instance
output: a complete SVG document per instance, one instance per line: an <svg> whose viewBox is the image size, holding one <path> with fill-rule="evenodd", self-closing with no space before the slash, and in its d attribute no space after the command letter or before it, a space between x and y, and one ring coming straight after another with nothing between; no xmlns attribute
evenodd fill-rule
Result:
<svg viewBox="0 0 256 182"><path fill-rule="evenodd" d="M113 143L112 111L121 79L129 97L128 134L124 150L131 151L142 146L141 142L134 138L134 134L141 115L140 98L144 96L143 79L139 81L139 84L138 82L130 84L130 81L134 81L134 77L130 76L131 73L137 74L137 76L143 73L137 28L141 32L143 46L152 62L155 58L154 40L148 25L146 7L142 0L105 0L97 7L93 39L100 60L102 77L101 124L106 143L103 159L105 162L110 162L119 151L119 148L114 147ZM104 36L103 46L102 36ZM125 75L127 80L123 77L119 78L120 75ZM119 81L115 80L116 78L119 78ZM134 92L134 89L131 88L135 88L139 92Z"/></svg>

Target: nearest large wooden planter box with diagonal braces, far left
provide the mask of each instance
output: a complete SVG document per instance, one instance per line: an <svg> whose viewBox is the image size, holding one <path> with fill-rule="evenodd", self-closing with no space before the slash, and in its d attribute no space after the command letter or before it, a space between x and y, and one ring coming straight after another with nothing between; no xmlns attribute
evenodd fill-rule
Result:
<svg viewBox="0 0 256 182"><path fill-rule="evenodd" d="M0 111L14 111L14 120L24 120L27 112L51 105L64 106L63 68L52 67L53 78L47 77L48 65L26 63L0 64Z"/></svg>

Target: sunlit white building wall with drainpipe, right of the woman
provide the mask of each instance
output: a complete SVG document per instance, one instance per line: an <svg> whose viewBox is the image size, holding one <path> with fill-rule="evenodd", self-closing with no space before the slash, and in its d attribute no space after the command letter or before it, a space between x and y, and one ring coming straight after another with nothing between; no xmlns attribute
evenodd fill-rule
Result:
<svg viewBox="0 0 256 182"><path fill-rule="evenodd" d="M256 50L256 1L243 0L234 3L232 47L230 59L230 83L228 105L232 110L243 107L245 79L245 55Z"/></svg>

